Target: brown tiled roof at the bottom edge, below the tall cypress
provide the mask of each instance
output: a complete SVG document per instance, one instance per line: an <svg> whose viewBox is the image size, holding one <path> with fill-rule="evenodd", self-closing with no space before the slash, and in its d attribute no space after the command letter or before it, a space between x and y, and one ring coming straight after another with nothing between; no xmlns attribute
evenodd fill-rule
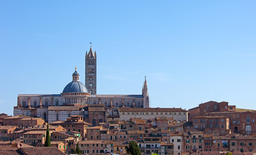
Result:
<svg viewBox="0 0 256 155"><path fill-rule="evenodd" d="M65 155L62 151L58 150L56 147L23 147L20 148L21 152L25 155Z"/></svg>

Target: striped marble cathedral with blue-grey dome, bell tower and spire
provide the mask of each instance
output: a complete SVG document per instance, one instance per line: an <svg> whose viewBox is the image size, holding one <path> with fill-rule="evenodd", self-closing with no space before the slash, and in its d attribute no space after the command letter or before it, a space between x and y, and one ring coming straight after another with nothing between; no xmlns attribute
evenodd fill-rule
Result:
<svg viewBox="0 0 256 155"><path fill-rule="evenodd" d="M51 123L73 115L83 115L87 105L104 105L105 108L148 108L146 78L142 94L97 94L97 56L90 47L85 56L85 85L79 80L79 73L75 68L72 81L60 94L19 94L14 116L34 116Z"/></svg>

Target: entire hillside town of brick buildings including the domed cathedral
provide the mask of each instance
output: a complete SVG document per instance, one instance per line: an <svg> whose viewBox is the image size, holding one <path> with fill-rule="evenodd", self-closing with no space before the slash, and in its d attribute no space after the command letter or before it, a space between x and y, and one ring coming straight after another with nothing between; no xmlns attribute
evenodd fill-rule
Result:
<svg viewBox="0 0 256 155"><path fill-rule="evenodd" d="M77 145L83 154L126 154L129 141L136 141L142 154L256 152L256 110L225 101L189 110L151 108L146 78L142 94L99 95L92 47L85 66L85 85L75 68L60 94L18 95L14 116L0 114L0 154L8 149L70 154ZM47 124L52 150L42 149Z"/></svg>

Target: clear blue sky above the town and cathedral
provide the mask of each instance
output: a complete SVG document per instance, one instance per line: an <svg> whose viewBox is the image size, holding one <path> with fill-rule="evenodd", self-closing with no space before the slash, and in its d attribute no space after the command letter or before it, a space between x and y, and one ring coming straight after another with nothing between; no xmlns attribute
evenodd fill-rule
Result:
<svg viewBox="0 0 256 155"><path fill-rule="evenodd" d="M151 107L256 108L256 1L0 1L0 113L18 94L60 94L97 52L97 94Z"/></svg>

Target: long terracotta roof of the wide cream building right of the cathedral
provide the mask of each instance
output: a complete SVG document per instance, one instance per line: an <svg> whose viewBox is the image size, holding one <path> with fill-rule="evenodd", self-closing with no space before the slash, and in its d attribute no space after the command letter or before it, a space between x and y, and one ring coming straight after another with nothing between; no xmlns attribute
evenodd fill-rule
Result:
<svg viewBox="0 0 256 155"><path fill-rule="evenodd" d="M182 108L118 108L120 112L188 112Z"/></svg>

